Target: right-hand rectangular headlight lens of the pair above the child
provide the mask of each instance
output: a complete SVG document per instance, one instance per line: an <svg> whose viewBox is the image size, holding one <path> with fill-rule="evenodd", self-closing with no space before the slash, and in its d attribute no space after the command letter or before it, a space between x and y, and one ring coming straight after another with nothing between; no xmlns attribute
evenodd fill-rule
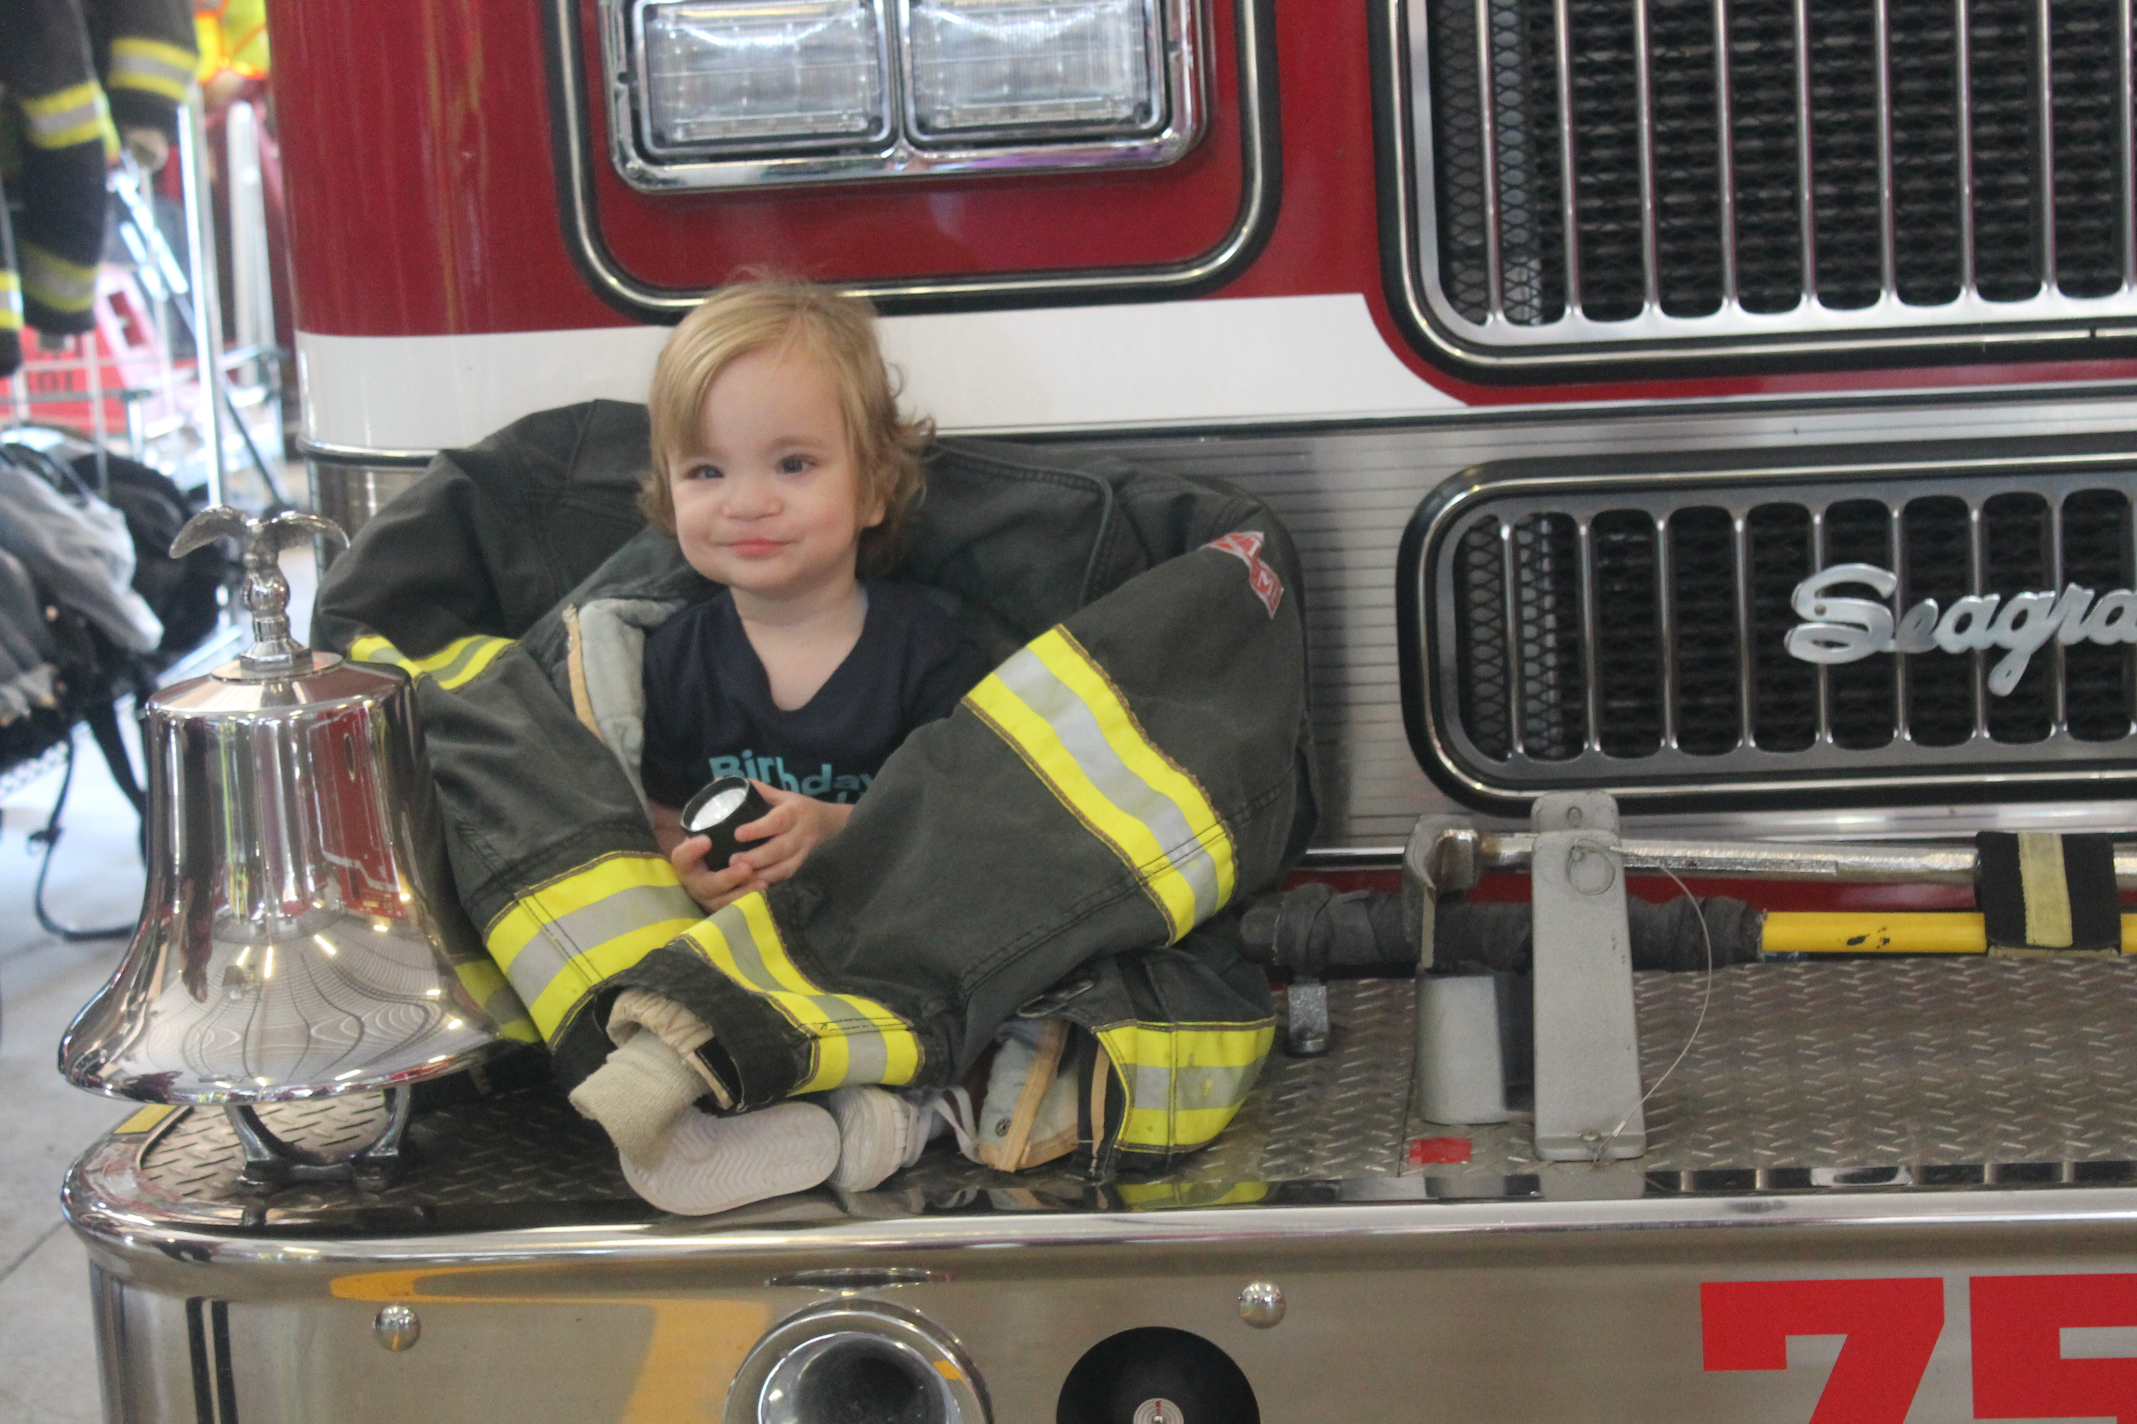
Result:
<svg viewBox="0 0 2137 1424"><path fill-rule="evenodd" d="M1152 0L910 0L919 137L1156 128L1163 38Z"/></svg>

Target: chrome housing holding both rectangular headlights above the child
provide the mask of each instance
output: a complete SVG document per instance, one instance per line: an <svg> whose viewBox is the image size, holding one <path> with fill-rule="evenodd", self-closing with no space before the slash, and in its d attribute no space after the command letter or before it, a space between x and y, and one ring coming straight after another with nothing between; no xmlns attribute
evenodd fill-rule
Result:
<svg viewBox="0 0 2137 1424"><path fill-rule="evenodd" d="M1154 167L1203 130L1203 0L600 0L633 188Z"/></svg>

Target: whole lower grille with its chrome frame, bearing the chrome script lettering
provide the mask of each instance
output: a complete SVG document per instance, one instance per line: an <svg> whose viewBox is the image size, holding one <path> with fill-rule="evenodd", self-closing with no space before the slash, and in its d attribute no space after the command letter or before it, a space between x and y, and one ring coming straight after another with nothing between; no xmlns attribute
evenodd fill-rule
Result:
<svg viewBox="0 0 2137 1424"><path fill-rule="evenodd" d="M2007 696L1987 653L1812 664L1795 587L1834 564L1896 604L2137 587L2137 476L1881 470L1787 485L1626 480L1460 500L1436 519L1413 743L1483 794L2137 769L2137 649L2049 640ZM1451 655L1449 655L1451 653Z"/></svg>

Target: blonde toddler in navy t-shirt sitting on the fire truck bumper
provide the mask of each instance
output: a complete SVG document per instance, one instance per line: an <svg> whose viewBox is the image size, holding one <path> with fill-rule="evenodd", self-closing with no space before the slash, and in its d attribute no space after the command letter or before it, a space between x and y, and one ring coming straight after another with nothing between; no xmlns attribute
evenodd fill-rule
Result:
<svg viewBox="0 0 2137 1424"><path fill-rule="evenodd" d="M889 564L923 489L930 425L902 421L865 301L789 282L714 292L669 337L652 386L643 506L714 587L645 638L641 777L660 850L707 912L793 875L838 835L885 758L985 677L983 653ZM707 867L680 807L720 775L771 811ZM718 1080L688 1010L626 991L618 1042L573 1104L615 1140L645 1200L709 1213L823 1181L868 1189L917 1155L930 1114L857 1087L744 1117L692 1102ZM727 1106L727 1104L722 1104Z"/></svg>

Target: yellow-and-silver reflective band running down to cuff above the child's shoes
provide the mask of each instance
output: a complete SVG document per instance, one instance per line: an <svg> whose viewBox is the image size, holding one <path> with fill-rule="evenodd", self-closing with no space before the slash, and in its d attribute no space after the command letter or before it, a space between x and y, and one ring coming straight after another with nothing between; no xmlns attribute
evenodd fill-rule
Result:
<svg viewBox="0 0 2137 1424"><path fill-rule="evenodd" d="M808 1035L810 1061L797 1093L823 1093L848 1082L898 1087L919 1074L921 1044L912 1025L885 1003L825 993L801 974L761 890L692 924L684 939L714 969Z"/></svg>

